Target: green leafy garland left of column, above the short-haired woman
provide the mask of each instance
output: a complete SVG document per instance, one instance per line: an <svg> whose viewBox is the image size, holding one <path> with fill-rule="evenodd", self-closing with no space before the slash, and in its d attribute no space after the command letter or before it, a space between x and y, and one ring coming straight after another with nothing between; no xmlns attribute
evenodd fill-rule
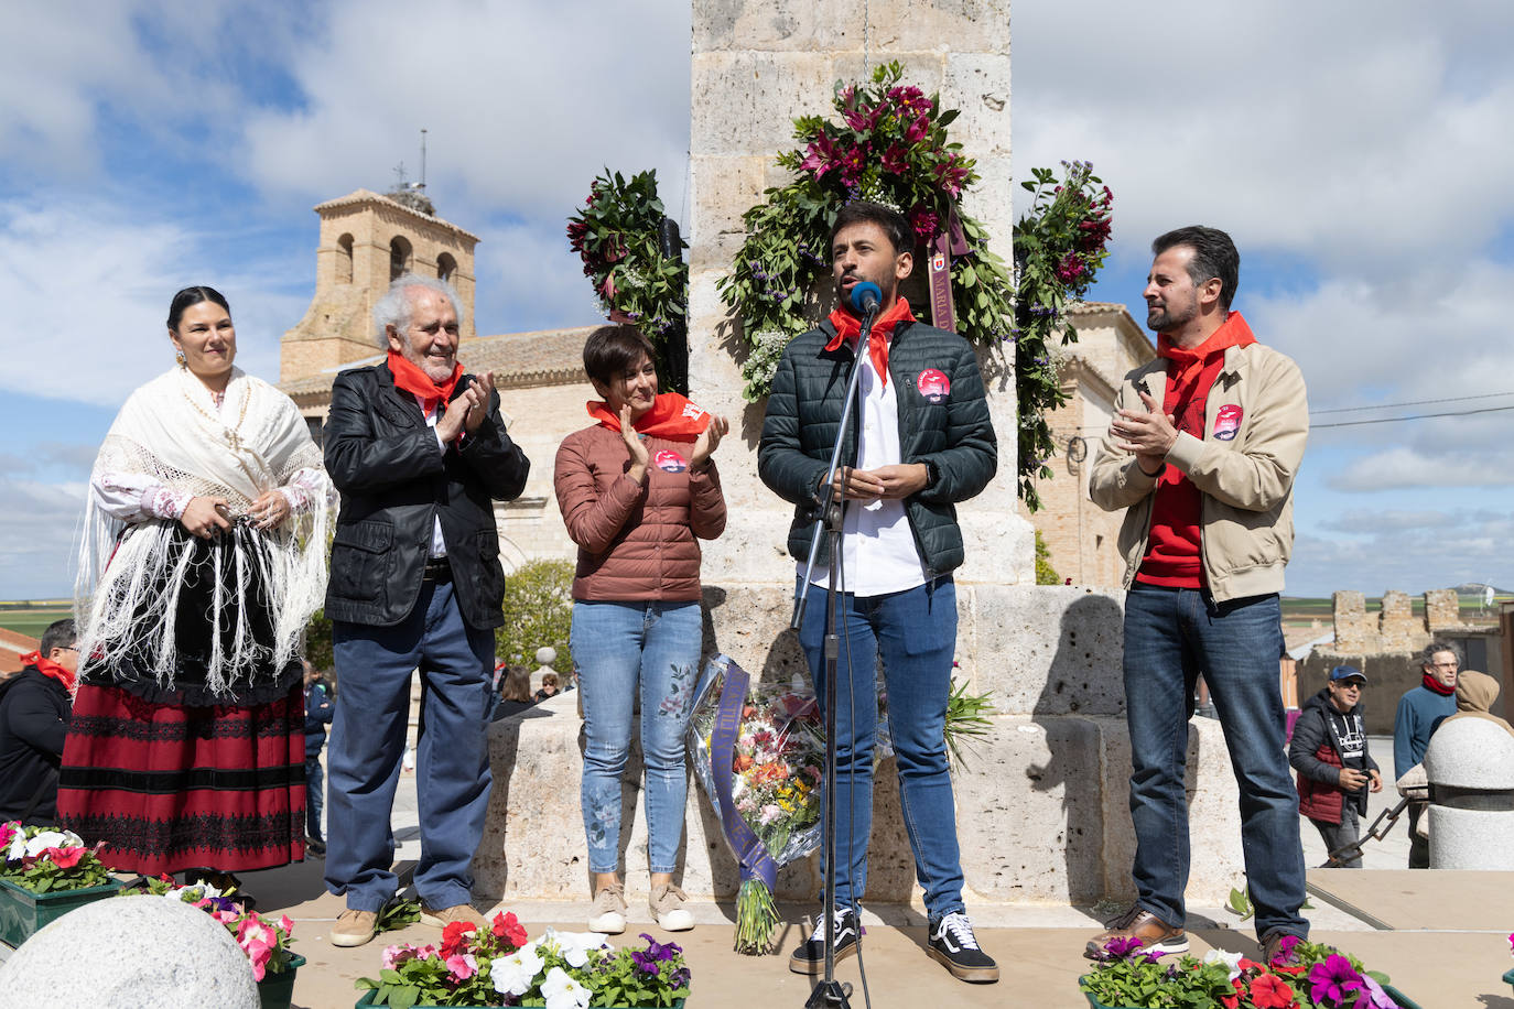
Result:
<svg viewBox="0 0 1514 1009"><path fill-rule="evenodd" d="M684 321L689 301L689 266L681 256L662 254L663 216L656 171L627 182L606 169L589 186L583 210L568 218L568 242L583 259L600 309L637 327L659 349Z"/></svg>

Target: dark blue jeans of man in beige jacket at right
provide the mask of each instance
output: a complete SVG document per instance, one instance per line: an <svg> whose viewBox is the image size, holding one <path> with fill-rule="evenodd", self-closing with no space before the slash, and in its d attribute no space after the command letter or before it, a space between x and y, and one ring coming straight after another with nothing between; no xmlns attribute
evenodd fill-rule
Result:
<svg viewBox="0 0 1514 1009"><path fill-rule="evenodd" d="M1139 903L1182 926L1188 885L1188 697L1199 673L1225 731L1240 787L1246 886L1257 935L1308 936L1299 796L1282 741L1276 595L1216 604L1208 593L1136 582L1125 596L1125 717Z"/></svg>

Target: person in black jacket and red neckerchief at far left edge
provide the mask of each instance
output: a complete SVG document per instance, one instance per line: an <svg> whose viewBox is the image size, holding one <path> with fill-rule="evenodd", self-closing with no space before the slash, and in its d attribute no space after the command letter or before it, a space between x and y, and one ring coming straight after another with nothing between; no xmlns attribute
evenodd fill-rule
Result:
<svg viewBox="0 0 1514 1009"><path fill-rule="evenodd" d="M0 823L55 823L58 768L79 672L73 620L42 631L20 673L0 682Z"/></svg>

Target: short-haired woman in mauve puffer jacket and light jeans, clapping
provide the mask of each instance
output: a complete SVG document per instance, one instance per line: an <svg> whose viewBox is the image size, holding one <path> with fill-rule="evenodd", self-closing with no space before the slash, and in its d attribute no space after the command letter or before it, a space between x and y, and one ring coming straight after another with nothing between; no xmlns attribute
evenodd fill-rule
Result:
<svg viewBox="0 0 1514 1009"><path fill-rule="evenodd" d="M640 699L646 765L648 906L669 932L693 927L672 882L687 790L684 726L699 644L699 539L725 529L710 454L728 425L677 393L657 395L651 343L628 325L589 334L583 366L603 402L563 439L553 483L578 545L572 660L583 690L583 826L593 874L589 929L625 930L619 877L621 776Z"/></svg>

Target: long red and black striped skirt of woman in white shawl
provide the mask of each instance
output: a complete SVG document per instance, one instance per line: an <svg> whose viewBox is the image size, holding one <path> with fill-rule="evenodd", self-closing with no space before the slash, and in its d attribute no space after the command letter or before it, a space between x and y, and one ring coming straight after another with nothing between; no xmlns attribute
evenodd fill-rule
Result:
<svg viewBox="0 0 1514 1009"><path fill-rule="evenodd" d="M124 871L242 871L304 858L304 694L154 703L83 684L58 815Z"/></svg>

